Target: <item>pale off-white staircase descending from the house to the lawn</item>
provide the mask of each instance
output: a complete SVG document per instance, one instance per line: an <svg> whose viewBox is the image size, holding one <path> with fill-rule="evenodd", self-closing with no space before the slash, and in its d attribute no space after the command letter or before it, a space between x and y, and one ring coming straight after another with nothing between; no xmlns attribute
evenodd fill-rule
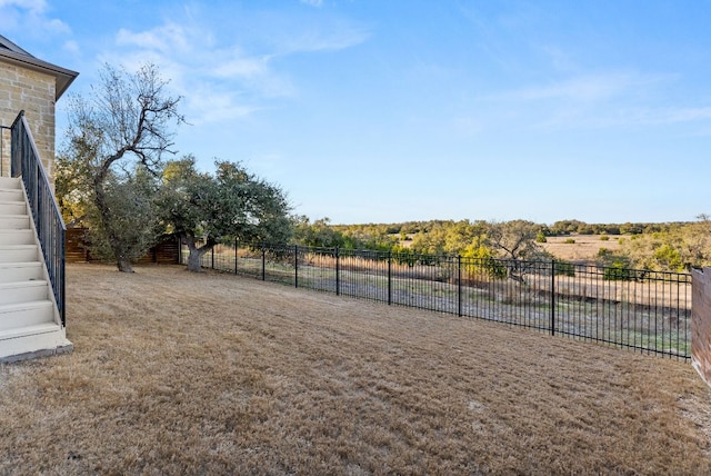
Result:
<svg viewBox="0 0 711 476"><path fill-rule="evenodd" d="M71 349L21 179L0 177L0 363Z"/></svg>

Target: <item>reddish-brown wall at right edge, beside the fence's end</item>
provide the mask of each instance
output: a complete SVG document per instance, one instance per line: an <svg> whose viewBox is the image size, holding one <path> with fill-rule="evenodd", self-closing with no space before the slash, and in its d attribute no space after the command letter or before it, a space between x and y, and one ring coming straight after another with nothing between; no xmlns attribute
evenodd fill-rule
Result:
<svg viewBox="0 0 711 476"><path fill-rule="evenodd" d="M691 272L691 364L711 386L711 268Z"/></svg>

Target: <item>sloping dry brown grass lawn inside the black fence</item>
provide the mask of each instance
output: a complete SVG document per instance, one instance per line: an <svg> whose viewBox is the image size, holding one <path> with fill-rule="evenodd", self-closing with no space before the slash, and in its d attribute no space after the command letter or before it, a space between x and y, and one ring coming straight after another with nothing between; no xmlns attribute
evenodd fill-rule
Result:
<svg viewBox="0 0 711 476"><path fill-rule="evenodd" d="M68 267L0 474L711 474L691 365L180 267Z"/></svg>

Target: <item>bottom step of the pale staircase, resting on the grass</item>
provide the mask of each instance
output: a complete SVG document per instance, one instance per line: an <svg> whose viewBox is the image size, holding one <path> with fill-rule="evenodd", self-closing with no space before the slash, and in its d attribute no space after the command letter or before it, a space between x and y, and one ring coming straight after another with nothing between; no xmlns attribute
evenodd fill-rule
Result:
<svg viewBox="0 0 711 476"><path fill-rule="evenodd" d="M66 330L54 323L0 330L0 363L64 354L72 348Z"/></svg>

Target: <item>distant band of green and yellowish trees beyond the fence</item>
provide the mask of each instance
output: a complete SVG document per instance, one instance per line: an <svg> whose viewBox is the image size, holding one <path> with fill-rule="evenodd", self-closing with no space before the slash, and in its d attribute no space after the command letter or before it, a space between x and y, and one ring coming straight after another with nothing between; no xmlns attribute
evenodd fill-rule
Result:
<svg viewBox="0 0 711 476"><path fill-rule="evenodd" d="M548 237L570 235L600 235L604 240L618 240L615 251L601 247L593 262L600 266L687 271L711 265L711 219L707 215L690 222L561 220L550 226L527 220L363 225L331 225L328 218L311 221L303 216L294 220L294 240L306 246L518 260L557 259L542 244Z"/></svg>

